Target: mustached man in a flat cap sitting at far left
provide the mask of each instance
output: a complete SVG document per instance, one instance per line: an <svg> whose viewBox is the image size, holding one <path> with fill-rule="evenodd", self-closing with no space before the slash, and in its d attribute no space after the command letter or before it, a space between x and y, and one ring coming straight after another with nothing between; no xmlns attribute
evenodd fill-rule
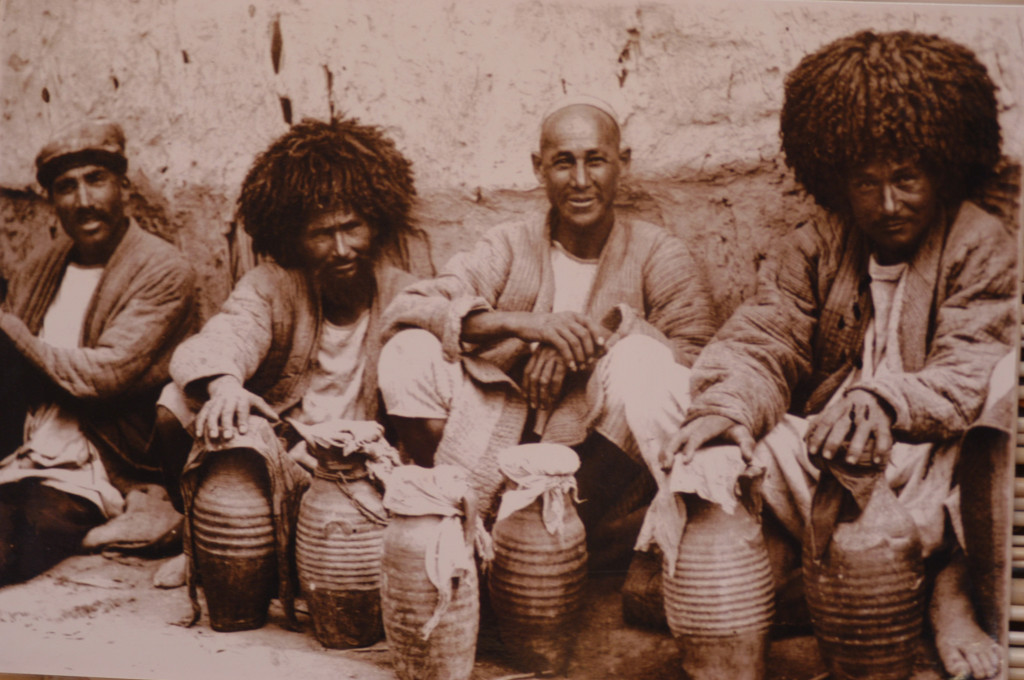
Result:
<svg viewBox="0 0 1024 680"><path fill-rule="evenodd" d="M159 480L154 403L191 326L193 271L125 214L124 143L120 126L90 121L36 158L63 232L0 309L0 584L80 552L129 488Z"/></svg>

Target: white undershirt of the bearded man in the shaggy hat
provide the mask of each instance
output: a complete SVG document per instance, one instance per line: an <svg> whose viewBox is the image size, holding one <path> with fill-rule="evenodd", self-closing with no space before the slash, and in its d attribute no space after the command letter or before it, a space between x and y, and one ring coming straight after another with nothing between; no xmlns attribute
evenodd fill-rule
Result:
<svg viewBox="0 0 1024 680"><path fill-rule="evenodd" d="M300 422L316 425L339 418L367 419L358 396L367 366L362 345L369 326L369 311L346 326L324 322L309 389L295 415Z"/></svg>

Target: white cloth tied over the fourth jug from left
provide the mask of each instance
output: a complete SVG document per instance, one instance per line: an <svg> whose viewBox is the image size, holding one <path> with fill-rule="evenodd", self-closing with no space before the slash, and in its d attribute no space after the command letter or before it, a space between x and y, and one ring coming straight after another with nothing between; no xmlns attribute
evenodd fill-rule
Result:
<svg viewBox="0 0 1024 680"><path fill-rule="evenodd" d="M499 453L498 467L514 486L502 495L496 521L540 498L544 527L551 535L560 534L565 522L565 495L580 502L574 476L580 468L577 453L557 443L520 444Z"/></svg>

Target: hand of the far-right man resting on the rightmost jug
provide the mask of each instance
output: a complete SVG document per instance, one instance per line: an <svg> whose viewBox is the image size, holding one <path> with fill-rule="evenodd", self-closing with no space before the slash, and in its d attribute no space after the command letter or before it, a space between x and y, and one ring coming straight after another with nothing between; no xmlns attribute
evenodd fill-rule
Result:
<svg viewBox="0 0 1024 680"><path fill-rule="evenodd" d="M885 466L893 445L892 429L893 418L874 394L850 390L811 422L807 451L831 460L845 449L849 465Z"/></svg>

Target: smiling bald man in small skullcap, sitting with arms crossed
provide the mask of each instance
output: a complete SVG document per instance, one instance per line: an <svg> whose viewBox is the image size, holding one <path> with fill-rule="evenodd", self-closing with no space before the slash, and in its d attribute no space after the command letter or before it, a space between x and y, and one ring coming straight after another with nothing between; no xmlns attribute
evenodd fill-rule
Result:
<svg viewBox="0 0 1024 680"><path fill-rule="evenodd" d="M578 475L592 525L643 472L607 444L630 448L621 424L600 419L598 358L642 334L689 366L712 313L683 243L614 209L630 150L608 104L559 103L532 161L550 210L492 229L395 298L381 392L404 455L468 469L482 508L502 482L498 452L538 438L577 445L596 429L603 438L588 439Z"/></svg>

